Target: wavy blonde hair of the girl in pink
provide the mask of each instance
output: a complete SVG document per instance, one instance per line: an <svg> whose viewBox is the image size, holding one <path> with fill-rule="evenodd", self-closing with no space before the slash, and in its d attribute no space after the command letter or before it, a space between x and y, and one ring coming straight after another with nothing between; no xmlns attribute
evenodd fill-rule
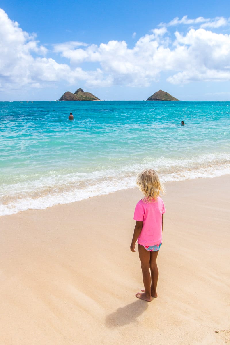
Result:
<svg viewBox="0 0 230 345"><path fill-rule="evenodd" d="M164 194L164 187L159 180L157 172L152 169L139 172L137 175L137 186L143 193L142 200L155 202L160 192Z"/></svg>

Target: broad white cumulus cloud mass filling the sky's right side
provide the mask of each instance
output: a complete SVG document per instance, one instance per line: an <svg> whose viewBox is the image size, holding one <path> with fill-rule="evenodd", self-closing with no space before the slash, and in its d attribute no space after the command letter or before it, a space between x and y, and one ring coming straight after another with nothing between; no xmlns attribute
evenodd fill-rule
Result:
<svg viewBox="0 0 230 345"><path fill-rule="evenodd" d="M205 29L190 29L185 35L176 31L170 45L166 34L164 27L154 29L152 34L141 37L133 49L125 41L109 41L59 52L72 65L98 62L102 73L109 77L109 85L148 86L158 80L162 71L172 72L168 81L174 84L230 80L230 35Z"/></svg>

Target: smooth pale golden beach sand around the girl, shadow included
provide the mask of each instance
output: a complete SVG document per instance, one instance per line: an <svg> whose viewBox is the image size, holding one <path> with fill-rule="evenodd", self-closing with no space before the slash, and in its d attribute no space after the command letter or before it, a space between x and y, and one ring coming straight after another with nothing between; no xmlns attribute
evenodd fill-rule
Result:
<svg viewBox="0 0 230 345"><path fill-rule="evenodd" d="M229 344L230 176L165 186L150 303L129 248L137 188L0 217L0 344Z"/></svg>

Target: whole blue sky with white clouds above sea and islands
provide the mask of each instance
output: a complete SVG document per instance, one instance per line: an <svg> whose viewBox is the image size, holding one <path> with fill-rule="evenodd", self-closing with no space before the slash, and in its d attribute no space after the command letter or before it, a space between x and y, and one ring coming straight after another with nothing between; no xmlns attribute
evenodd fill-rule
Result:
<svg viewBox="0 0 230 345"><path fill-rule="evenodd" d="M0 101L230 101L230 1L1 0Z"/></svg>

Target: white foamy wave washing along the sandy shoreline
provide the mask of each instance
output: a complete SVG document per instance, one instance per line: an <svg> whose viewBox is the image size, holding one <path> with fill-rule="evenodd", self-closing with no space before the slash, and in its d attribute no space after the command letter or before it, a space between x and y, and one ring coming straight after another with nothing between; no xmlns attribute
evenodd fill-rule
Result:
<svg viewBox="0 0 230 345"><path fill-rule="evenodd" d="M1 186L0 215L10 215L28 209L45 209L93 196L113 193L136 186L137 172L156 169L161 181L183 181L230 174L230 155L198 156L193 159L143 159L140 164L119 169L98 170L40 177L34 181ZM4 190L7 188L7 195Z"/></svg>

